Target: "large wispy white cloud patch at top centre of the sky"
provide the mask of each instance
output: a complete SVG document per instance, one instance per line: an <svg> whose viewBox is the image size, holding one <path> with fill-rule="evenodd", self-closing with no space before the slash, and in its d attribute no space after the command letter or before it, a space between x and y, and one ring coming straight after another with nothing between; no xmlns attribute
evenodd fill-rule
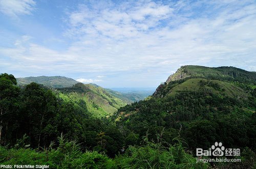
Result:
<svg viewBox="0 0 256 169"><path fill-rule="evenodd" d="M100 33L114 39L136 37L139 32L161 24L159 21L171 16L173 11L168 5L155 2L127 3L123 9L121 6L115 8L114 5L107 5L99 10L99 6L93 6L95 8L80 5L78 11L70 14L71 28L66 35L98 36Z"/></svg>

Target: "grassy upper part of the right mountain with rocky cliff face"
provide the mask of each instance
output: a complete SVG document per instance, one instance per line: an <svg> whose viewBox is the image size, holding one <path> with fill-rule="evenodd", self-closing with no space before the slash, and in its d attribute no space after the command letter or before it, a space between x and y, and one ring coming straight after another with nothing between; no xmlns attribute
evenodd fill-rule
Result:
<svg viewBox="0 0 256 169"><path fill-rule="evenodd" d="M222 96L244 98L256 88L256 72L235 67L209 68L182 66L160 85L156 97L175 96L183 92L212 92Z"/></svg>

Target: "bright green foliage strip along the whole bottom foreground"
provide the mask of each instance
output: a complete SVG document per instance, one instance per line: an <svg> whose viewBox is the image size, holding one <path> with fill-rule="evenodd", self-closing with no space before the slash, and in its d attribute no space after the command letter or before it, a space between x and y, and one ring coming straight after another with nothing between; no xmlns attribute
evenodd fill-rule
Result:
<svg viewBox="0 0 256 169"><path fill-rule="evenodd" d="M82 152L79 144L61 135L56 149L53 145L43 151L0 147L0 162L4 165L50 165L51 168L206 168L207 164L196 163L180 142L164 147L160 134L158 138L159 142L154 143L145 137L145 146L131 146L123 156L111 159L96 151Z"/></svg>

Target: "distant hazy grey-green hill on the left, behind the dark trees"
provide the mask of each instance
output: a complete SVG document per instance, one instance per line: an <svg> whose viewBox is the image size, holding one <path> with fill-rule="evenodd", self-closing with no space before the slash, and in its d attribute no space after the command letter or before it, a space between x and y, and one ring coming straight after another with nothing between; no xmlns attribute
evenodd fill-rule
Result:
<svg viewBox="0 0 256 169"><path fill-rule="evenodd" d="M38 76L38 77L24 77L24 78L16 78L19 86L28 85L31 82L36 82L42 84L47 87L53 88L67 88L72 87L78 81L63 77L63 76Z"/></svg>

